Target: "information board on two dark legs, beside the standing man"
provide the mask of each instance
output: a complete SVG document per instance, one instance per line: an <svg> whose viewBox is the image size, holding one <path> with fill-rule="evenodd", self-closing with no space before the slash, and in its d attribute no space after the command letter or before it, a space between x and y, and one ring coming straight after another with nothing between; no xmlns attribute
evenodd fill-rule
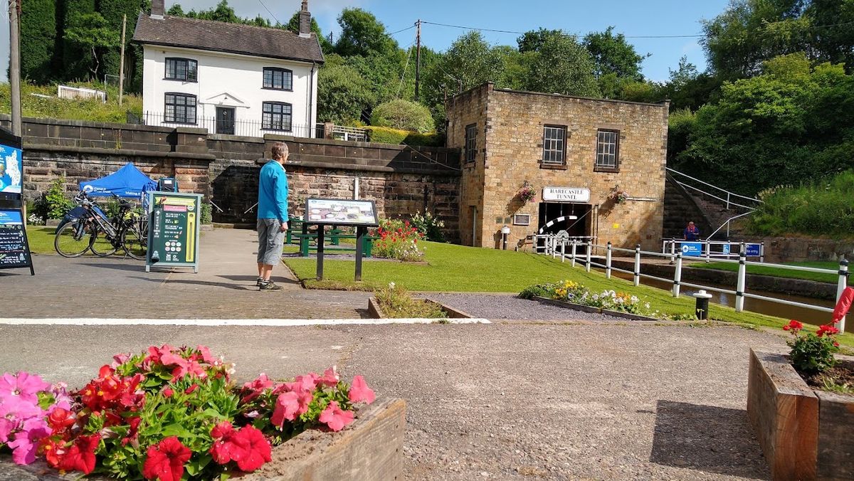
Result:
<svg viewBox="0 0 854 481"><path fill-rule="evenodd" d="M356 228L356 273L355 280L362 280L362 245L368 227L379 226L377 205L373 201L348 199L307 199L306 214L302 221L302 233L308 226L318 226L317 279L323 280L324 228L325 226Z"/></svg>

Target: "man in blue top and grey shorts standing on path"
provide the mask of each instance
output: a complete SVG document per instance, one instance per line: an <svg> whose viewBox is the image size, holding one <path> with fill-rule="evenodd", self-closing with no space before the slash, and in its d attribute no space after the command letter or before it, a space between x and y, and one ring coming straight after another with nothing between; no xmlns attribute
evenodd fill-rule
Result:
<svg viewBox="0 0 854 481"><path fill-rule="evenodd" d="M270 280L272 267L282 261L284 232L288 230L288 176L284 162L288 146L272 146L272 161L261 167L258 179L258 284L259 290L282 290Z"/></svg>

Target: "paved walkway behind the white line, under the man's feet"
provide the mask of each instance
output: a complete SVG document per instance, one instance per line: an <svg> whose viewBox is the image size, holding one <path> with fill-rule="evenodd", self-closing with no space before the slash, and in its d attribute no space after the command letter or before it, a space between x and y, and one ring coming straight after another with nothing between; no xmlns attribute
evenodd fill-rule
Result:
<svg viewBox="0 0 854 481"><path fill-rule="evenodd" d="M255 287L254 231L202 232L199 273L152 269L131 258L34 255L36 275L0 271L0 317L154 319L358 319L368 294L303 290L283 266L273 279L285 287ZM285 276L283 278L283 276Z"/></svg>

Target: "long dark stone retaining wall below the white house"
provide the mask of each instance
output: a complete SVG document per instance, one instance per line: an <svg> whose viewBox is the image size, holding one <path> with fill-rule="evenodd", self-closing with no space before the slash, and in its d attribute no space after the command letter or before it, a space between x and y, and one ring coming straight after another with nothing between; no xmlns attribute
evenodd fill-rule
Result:
<svg viewBox="0 0 854 481"><path fill-rule="evenodd" d="M8 126L9 117L0 116ZM209 135L205 129L135 126L72 120L25 119L24 191L34 200L66 176L69 195L81 180L97 179L133 162L152 179L175 177L181 191L208 196L218 222L254 224L260 166L272 144L290 149L290 205L301 214L306 197L377 202L381 216L429 209L458 238L459 151L267 135Z"/></svg>

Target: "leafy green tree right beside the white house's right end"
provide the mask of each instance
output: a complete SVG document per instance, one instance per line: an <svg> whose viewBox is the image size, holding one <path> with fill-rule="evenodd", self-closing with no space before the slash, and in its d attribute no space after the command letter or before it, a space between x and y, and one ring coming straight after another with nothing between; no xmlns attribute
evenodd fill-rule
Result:
<svg viewBox="0 0 854 481"><path fill-rule="evenodd" d="M375 103L371 85L358 70L332 54L318 74L318 120L338 125L360 121L362 113Z"/></svg>

